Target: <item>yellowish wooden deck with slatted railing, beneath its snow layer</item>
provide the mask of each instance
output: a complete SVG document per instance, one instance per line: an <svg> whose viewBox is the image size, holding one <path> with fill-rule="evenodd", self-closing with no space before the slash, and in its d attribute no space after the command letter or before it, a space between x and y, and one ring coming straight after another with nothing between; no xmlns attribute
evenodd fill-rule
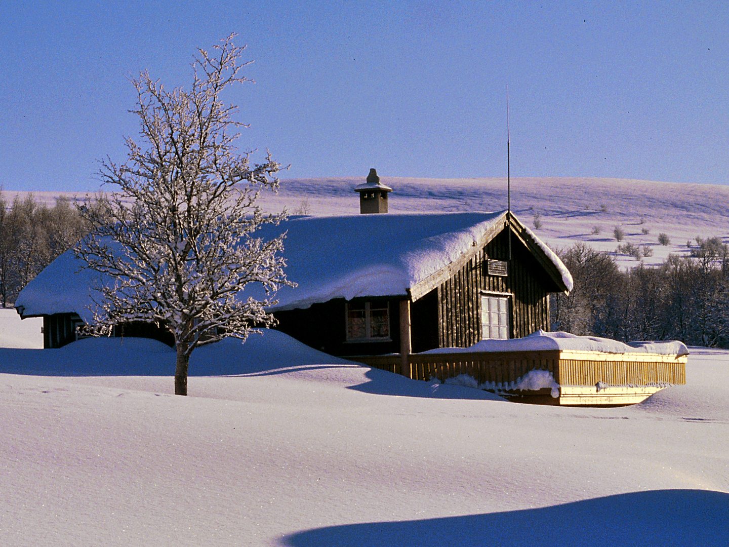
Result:
<svg viewBox="0 0 729 547"><path fill-rule="evenodd" d="M399 373L399 354L348 357L373 368ZM410 378L445 381L460 374L493 384L510 400L561 406L622 406L639 403L663 387L686 383L687 356L612 354L549 350L534 352L427 353L408 356ZM559 396L550 389L512 389L529 371L550 371Z"/></svg>

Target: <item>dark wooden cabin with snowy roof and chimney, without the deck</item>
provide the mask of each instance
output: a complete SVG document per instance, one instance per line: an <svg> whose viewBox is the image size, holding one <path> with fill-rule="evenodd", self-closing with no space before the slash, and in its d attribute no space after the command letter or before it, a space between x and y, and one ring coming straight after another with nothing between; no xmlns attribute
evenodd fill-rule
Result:
<svg viewBox="0 0 729 547"><path fill-rule="evenodd" d="M391 191L374 170L362 186ZM548 330L548 296L569 291L572 279L515 215L367 214L362 187L356 191L364 214L292 217L260 231L286 231L286 274L298 284L276 295L270 311L278 330L338 356L410 354ZM79 270L66 253L17 298L21 317L44 318L47 348L74 341L90 316L94 273ZM252 285L242 295L265 296ZM122 325L117 335L172 343L153 325Z"/></svg>

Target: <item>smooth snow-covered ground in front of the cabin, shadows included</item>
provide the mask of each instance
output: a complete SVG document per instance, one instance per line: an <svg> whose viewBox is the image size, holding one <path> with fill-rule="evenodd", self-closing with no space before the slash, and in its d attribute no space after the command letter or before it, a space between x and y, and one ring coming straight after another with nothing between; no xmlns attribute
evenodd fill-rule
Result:
<svg viewBox="0 0 729 547"><path fill-rule="evenodd" d="M0 363L4 546L720 546L729 534L722 350L692 349L686 386L612 409L507 403L276 332L198 349L190 397L171 395L174 352L155 341L0 349Z"/></svg>

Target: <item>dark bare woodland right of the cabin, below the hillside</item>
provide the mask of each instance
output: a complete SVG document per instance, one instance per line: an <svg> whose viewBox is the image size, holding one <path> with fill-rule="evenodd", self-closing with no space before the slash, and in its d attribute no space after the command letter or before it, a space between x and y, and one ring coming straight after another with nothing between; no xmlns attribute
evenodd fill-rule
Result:
<svg viewBox="0 0 729 547"><path fill-rule="evenodd" d="M620 341L680 340L729 347L729 247L695 238L690 255L620 269L585 244L558 252L572 273L569 295L550 301L552 330Z"/></svg>

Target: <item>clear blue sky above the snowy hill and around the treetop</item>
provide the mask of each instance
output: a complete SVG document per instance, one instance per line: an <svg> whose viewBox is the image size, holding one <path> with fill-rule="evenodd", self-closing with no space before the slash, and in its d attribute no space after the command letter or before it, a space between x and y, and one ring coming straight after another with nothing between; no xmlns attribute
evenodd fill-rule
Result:
<svg viewBox="0 0 729 547"><path fill-rule="evenodd" d="M512 176L726 184L728 29L718 1L11 0L0 185L97 188L137 133L129 77L187 85L230 32L241 149L284 178L505 176L508 84Z"/></svg>

